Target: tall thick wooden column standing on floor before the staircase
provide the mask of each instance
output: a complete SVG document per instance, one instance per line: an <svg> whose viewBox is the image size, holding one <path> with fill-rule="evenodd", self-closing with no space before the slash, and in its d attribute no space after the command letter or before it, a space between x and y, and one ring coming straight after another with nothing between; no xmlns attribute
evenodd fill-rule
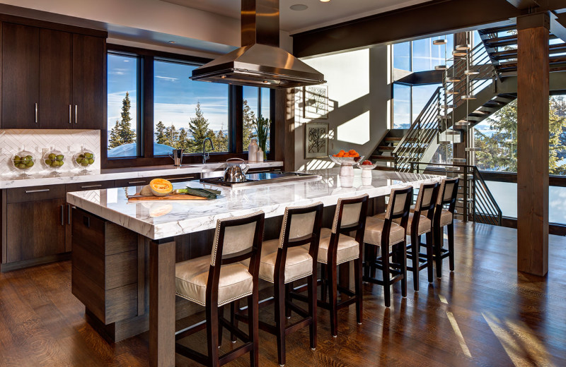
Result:
<svg viewBox="0 0 566 367"><path fill-rule="evenodd" d="M517 270L548 272L548 13L517 18Z"/></svg>

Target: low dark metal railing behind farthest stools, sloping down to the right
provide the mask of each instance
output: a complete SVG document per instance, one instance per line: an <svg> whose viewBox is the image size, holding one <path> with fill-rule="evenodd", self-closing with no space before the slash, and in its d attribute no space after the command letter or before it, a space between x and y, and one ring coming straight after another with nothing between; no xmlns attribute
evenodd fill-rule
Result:
<svg viewBox="0 0 566 367"><path fill-rule="evenodd" d="M410 172L459 177L456 213L462 216L463 222L471 219L477 223L502 225L501 208L478 167L466 164L410 162Z"/></svg>

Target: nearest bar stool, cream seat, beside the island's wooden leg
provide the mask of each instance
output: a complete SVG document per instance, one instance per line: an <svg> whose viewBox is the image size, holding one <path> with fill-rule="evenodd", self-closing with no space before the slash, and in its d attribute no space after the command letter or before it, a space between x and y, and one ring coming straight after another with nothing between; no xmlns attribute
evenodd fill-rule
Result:
<svg viewBox="0 0 566 367"><path fill-rule="evenodd" d="M208 355L175 342L175 352L204 366L222 366L250 352L250 366L258 366L258 274L265 214L219 219L210 256L175 265L175 294L206 307L207 318L175 332L175 340L207 329ZM250 259L249 267L241 261ZM243 297L248 298L248 335L235 327L219 308ZM241 347L219 356L219 325L243 340Z"/></svg>

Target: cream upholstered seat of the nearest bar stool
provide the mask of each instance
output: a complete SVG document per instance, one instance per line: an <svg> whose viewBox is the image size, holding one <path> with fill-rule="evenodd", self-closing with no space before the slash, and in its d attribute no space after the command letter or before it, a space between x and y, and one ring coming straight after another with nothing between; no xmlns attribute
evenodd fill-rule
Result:
<svg viewBox="0 0 566 367"><path fill-rule="evenodd" d="M209 268L210 255L175 265L175 293L200 306L206 306ZM248 271L248 265L236 263L221 267L218 282L218 306L249 296L252 291L253 277Z"/></svg>

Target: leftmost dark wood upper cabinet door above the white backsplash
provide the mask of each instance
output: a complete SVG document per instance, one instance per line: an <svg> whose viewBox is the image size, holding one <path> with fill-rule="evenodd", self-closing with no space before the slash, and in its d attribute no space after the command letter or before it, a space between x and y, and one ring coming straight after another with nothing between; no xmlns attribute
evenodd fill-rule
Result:
<svg viewBox="0 0 566 367"><path fill-rule="evenodd" d="M39 128L39 28L2 24L2 128Z"/></svg>

